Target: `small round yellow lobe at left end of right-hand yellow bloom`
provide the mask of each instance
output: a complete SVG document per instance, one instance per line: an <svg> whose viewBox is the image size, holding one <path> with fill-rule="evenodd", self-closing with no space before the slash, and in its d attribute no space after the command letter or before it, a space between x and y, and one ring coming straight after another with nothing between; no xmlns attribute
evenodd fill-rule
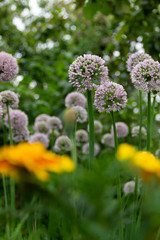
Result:
<svg viewBox="0 0 160 240"><path fill-rule="evenodd" d="M128 143L122 143L118 147L116 157L119 161L125 161L133 158L135 153L136 149L132 145Z"/></svg>

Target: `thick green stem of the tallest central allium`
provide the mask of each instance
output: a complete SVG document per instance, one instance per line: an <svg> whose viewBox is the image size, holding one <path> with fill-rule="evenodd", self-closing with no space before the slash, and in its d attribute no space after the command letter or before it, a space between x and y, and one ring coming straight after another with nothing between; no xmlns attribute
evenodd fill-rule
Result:
<svg viewBox="0 0 160 240"><path fill-rule="evenodd" d="M94 160L94 112L93 112L93 99L92 91L87 90L87 101L88 101L88 118L89 118L89 169Z"/></svg>

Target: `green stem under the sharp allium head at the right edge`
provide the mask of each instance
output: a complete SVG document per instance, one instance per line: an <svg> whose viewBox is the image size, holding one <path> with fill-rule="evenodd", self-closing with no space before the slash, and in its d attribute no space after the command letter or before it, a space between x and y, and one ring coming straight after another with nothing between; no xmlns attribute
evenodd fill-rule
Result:
<svg viewBox="0 0 160 240"><path fill-rule="evenodd" d="M148 111L147 111L147 151L151 149L151 92L148 93Z"/></svg>

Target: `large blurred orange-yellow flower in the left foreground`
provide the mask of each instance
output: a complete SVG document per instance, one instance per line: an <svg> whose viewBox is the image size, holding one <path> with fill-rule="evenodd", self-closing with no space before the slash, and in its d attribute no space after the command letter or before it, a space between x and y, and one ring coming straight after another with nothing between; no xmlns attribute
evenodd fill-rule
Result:
<svg viewBox="0 0 160 240"><path fill-rule="evenodd" d="M39 180L49 180L49 172L72 172L74 162L68 156L47 151L41 143L20 143L0 149L0 174L19 180L34 174Z"/></svg>

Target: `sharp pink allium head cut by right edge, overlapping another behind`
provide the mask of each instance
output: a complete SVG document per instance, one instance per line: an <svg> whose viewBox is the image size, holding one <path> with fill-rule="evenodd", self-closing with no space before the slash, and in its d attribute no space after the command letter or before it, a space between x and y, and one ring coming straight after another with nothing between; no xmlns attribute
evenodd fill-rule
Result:
<svg viewBox="0 0 160 240"><path fill-rule="evenodd" d="M160 63L153 60L138 63L131 72L131 81L139 90L160 91Z"/></svg>

